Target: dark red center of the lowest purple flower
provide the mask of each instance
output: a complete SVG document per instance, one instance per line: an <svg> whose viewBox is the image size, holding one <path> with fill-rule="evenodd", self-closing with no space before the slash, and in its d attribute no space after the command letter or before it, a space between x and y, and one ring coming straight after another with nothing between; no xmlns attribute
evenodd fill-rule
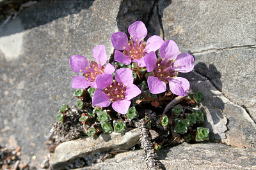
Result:
<svg viewBox="0 0 256 170"><path fill-rule="evenodd" d="M126 86L120 83L117 83L116 80L113 80L112 84L103 90L104 93L108 94L111 101L124 100L124 92Z"/></svg>

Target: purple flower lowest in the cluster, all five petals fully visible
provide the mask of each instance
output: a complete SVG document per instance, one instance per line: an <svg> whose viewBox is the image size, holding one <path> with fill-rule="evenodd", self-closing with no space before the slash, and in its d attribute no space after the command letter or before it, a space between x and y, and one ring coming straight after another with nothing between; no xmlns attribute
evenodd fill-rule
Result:
<svg viewBox="0 0 256 170"><path fill-rule="evenodd" d="M122 115L127 113L131 104L130 100L141 94L141 90L133 84L131 69L116 70L115 80L111 74L100 74L96 78L96 83L98 89L94 92L92 104L108 107L113 103L113 110Z"/></svg>

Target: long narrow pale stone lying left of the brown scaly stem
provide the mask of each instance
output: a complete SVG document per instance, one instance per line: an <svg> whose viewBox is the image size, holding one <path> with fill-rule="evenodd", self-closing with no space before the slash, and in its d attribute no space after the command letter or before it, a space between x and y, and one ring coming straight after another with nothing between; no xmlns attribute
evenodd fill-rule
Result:
<svg viewBox="0 0 256 170"><path fill-rule="evenodd" d="M74 141L61 143L56 148L50 160L52 169L65 169L67 162L78 157L86 157L92 152L102 152L113 149L129 149L138 144L140 132L138 129L126 132L124 135L118 133L100 134L97 139L81 138Z"/></svg>

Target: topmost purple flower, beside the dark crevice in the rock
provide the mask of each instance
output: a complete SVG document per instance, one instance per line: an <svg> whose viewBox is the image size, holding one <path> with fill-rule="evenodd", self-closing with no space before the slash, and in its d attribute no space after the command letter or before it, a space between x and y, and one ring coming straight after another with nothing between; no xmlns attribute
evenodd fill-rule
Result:
<svg viewBox="0 0 256 170"><path fill-rule="evenodd" d="M145 67L143 57L149 52L156 52L164 42L159 36L151 36L147 43L144 38L147 36L147 28L141 21L136 21L129 26L130 40L124 32L115 32L111 35L111 42L115 51L115 61L125 65L131 61L137 62L138 66ZM120 52L124 50L124 52Z"/></svg>

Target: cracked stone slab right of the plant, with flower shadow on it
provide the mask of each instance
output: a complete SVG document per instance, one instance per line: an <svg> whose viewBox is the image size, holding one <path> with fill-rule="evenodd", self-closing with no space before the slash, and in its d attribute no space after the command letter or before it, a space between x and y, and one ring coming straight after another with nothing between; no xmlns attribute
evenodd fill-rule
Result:
<svg viewBox="0 0 256 170"><path fill-rule="evenodd" d="M182 75L188 78L193 90L204 94L202 107L207 113L206 127L213 132L211 137L239 148L256 148L256 125L244 108L229 101L200 74L191 72ZM228 129L225 129L226 124Z"/></svg>

